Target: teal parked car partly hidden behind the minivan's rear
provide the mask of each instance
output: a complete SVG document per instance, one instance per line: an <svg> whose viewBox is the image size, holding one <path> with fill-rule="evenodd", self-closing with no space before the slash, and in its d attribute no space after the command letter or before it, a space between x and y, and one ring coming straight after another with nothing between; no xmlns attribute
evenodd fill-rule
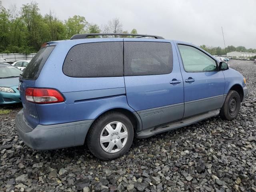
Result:
<svg viewBox="0 0 256 192"><path fill-rule="evenodd" d="M19 76L22 71L16 67L0 62L0 105L19 103Z"/></svg>

